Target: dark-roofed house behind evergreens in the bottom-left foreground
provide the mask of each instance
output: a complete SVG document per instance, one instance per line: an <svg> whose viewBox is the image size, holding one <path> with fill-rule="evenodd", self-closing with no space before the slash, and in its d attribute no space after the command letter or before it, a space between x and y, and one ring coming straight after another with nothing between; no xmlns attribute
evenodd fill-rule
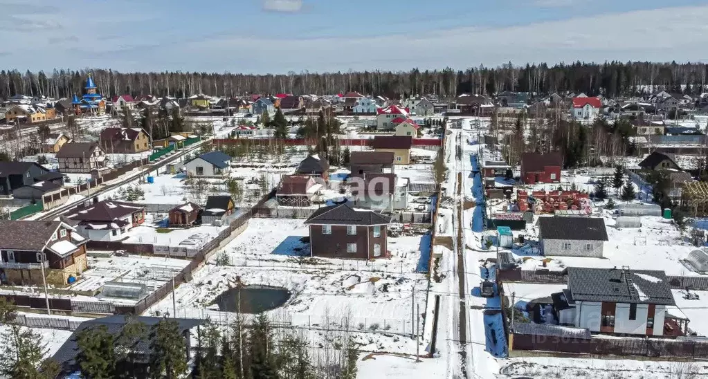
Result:
<svg viewBox="0 0 708 379"><path fill-rule="evenodd" d="M127 335L131 325L144 325L146 332L144 334L136 334L135 340L131 341L130 347L130 373L135 375L135 378L147 378L151 370L151 359L154 356L152 346L154 346L154 334L150 332L161 321L166 320L164 317L146 317L146 316L127 316L127 315L111 315L95 319L88 319L81 322L81 325L74 330L74 333L66 339L64 344L59 347L59 350L52 356L52 361L59 364L59 378L75 378L74 373L81 371L81 366L76 361L76 356L79 354L79 334L86 330L98 330L103 328L105 332L110 334L110 341L113 346L110 346L110 351L118 351L122 349L118 341L121 337ZM175 322L176 332L183 338L181 344L181 354L185 354L182 358L185 362L189 362L193 351L192 331L195 327L202 325L205 320L186 319L186 318L170 318L170 321ZM135 329L134 329L135 330ZM124 331L126 333L124 333ZM108 339L106 339L108 341Z"/></svg>

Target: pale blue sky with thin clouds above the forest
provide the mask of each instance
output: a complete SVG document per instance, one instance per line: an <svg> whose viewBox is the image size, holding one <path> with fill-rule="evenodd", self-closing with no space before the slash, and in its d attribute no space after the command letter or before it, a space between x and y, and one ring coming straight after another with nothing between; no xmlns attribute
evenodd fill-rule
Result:
<svg viewBox="0 0 708 379"><path fill-rule="evenodd" d="M0 68L281 74L708 62L702 0L0 0Z"/></svg>

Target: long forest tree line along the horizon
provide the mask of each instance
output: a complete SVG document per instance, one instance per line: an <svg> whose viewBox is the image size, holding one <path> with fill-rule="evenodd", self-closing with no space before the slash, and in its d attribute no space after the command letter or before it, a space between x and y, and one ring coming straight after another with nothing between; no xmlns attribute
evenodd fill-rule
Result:
<svg viewBox="0 0 708 379"><path fill-rule="evenodd" d="M240 96L249 93L336 94L358 91L365 95L404 98L436 94L454 98L462 93L493 95L501 91L533 93L586 93L617 97L658 91L701 93L706 85L708 65L676 62L605 62L572 64L526 64L508 62L496 68L479 66L456 71L348 71L299 74L232 74L225 72L131 72L110 69L54 69L25 73L17 69L0 71L0 98L12 95L44 95L70 98L84 91L91 73L99 93L114 95L169 95L184 98L197 93Z"/></svg>

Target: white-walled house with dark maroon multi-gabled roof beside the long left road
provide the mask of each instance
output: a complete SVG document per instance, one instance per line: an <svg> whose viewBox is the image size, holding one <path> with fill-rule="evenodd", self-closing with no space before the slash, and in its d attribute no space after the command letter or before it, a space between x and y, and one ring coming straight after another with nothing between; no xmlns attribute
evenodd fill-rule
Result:
<svg viewBox="0 0 708 379"><path fill-rule="evenodd" d="M113 200L94 201L79 206L66 216L76 223L76 231L92 241L117 241L127 238L127 231L145 221L145 206Z"/></svg>

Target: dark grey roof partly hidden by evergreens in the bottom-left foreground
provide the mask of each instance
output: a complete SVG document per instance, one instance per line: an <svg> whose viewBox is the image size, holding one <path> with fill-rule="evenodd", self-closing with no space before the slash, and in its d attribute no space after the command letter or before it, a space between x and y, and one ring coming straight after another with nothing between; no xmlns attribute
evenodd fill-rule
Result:
<svg viewBox="0 0 708 379"><path fill-rule="evenodd" d="M169 320L176 322L177 329L180 334L184 334L185 331L190 330L198 325L202 325L205 322L205 320L196 319L165 319L164 317L145 316L132 317L132 320L135 320L135 322L141 322L148 328L144 338L138 339L134 344L132 344L132 349L134 349L135 353L140 354L142 356L149 355L151 350L150 346L152 345L153 334L149 332L149 328L153 327L161 320ZM79 346L76 344L76 338L79 333L81 333L83 330L104 326L106 328L106 332L112 334L114 337L118 337L118 335L120 335L122 330L125 328L126 325L128 325L129 322L131 322L131 317L125 315L113 315L81 322L81 325L79 325L79 327L74 330L72 336L69 337L69 339L67 339L67 341L64 342L61 347L59 347L59 350L57 350L54 356L52 356L52 359L59 363L59 365L64 368L64 371L74 371L76 369L76 367L74 367L76 364L74 360L76 359L76 355L79 352Z"/></svg>

